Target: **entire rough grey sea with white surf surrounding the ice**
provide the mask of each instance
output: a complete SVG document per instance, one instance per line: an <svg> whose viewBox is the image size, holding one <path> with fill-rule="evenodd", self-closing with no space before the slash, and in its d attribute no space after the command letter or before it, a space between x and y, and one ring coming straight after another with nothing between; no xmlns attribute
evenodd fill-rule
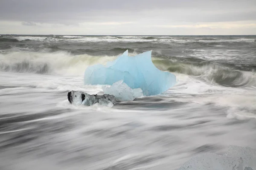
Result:
<svg viewBox="0 0 256 170"><path fill-rule="evenodd" d="M75 107L87 66L152 51L177 84L112 108ZM0 36L1 170L175 170L256 148L256 36Z"/></svg>

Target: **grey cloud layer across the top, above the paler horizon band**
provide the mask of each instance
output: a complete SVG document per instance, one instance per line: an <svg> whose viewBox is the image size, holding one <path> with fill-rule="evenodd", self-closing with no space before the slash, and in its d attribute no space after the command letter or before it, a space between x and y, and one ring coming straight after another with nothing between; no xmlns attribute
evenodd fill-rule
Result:
<svg viewBox="0 0 256 170"><path fill-rule="evenodd" d="M1 0L0 19L74 24L256 20L256 0Z"/></svg>

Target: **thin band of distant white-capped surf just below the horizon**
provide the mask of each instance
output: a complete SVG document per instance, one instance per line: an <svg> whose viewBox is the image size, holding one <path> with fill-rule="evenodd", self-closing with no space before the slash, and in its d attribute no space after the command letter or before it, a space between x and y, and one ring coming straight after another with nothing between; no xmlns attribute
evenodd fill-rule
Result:
<svg viewBox="0 0 256 170"><path fill-rule="evenodd" d="M7 39L7 40L6 40ZM15 41L15 39L17 41ZM171 36L13 36L0 37L0 41L68 41L68 42L152 42L164 44L199 43L219 45L219 43L253 43L253 38L218 39L212 37L171 37Z"/></svg>

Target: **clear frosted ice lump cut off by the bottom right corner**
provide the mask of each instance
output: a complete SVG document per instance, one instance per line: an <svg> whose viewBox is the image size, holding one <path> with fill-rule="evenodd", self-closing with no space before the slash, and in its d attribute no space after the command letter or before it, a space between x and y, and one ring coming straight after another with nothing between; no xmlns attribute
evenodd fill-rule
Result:
<svg viewBox="0 0 256 170"><path fill-rule="evenodd" d="M187 161L179 170L256 170L256 150L229 146L224 155L201 154Z"/></svg>

